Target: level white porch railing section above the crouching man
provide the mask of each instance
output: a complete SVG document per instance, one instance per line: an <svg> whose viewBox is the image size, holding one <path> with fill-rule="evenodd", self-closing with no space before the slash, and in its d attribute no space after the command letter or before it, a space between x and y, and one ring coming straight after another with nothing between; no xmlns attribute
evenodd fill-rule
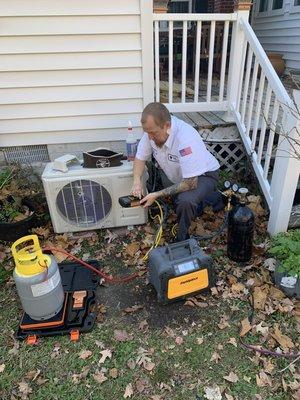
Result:
<svg viewBox="0 0 300 400"><path fill-rule="evenodd" d="M168 40L168 98L163 100L172 112L188 111L227 111L228 101L224 99L225 73L227 65L227 50L230 24L236 21L237 14L154 14L154 58L155 58L155 99L161 100L161 71L160 71L160 37L165 36ZM168 21L167 31L161 31L160 22ZM180 23L180 27L175 27ZM192 27L193 23L193 27ZM189 26L190 25L190 26ZM217 29L216 29L217 28ZM187 43L188 31L194 32L193 43L193 98L187 98ZM222 31L222 43L219 43L220 32ZM181 62L181 98L174 99L174 32L182 41L182 62ZM216 32L218 37L216 37ZM182 33L182 34L181 34ZM204 43L205 39L205 43ZM218 48L216 48L218 45ZM212 92L213 64L218 57L220 63L220 77L218 82L218 94ZM205 90L201 88L200 61L205 59L208 67L205 73ZM201 96L199 89L204 91Z"/></svg>

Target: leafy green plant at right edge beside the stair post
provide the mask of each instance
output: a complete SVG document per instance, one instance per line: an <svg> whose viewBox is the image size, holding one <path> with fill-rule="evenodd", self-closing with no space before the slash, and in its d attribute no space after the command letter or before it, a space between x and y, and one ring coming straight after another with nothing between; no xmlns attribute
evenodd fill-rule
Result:
<svg viewBox="0 0 300 400"><path fill-rule="evenodd" d="M274 236L269 252L280 261L279 271L300 277L300 229Z"/></svg>

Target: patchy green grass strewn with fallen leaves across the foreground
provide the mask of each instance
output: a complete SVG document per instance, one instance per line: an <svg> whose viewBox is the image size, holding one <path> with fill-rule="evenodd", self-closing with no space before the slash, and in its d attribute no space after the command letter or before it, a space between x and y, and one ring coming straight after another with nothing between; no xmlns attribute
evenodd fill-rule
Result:
<svg viewBox="0 0 300 400"><path fill-rule="evenodd" d="M100 291L101 293L101 291ZM43 338L36 346L28 346L20 342L16 354L9 354L13 348L12 330L18 325L19 309L14 288L3 288L1 301L1 337L0 337L0 364L5 364L5 370L1 374L0 393L3 399L9 399L12 393L18 393L18 384L22 380L29 383L32 393L30 399L122 399L126 386L138 379L147 379L148 385L145 392L138 394L135 391L134 399L149 399L154 394L166 394L161 387L167 385L172 391L172 400L195 399L196 394L202 396L206 386L214 384L226 388L226 393L236 396L237 399L252 400L256 394L262 399L287 400L287 394L278 390L270 395L268 388L258 388L255 382L255 374L261 369L261 365L255 365L250 357L254 354L228 344L231 337L238 342L238 324L241 318L247 315L247 305L241 301L236 302L240 307L239 312L230 315L230 327L220 330L217 327L224 313L229 315L230 309L226 303L219 303L213 307L214 312L207 315L205 310L199 309L188 322L170 321L166 326L172 329L173 336L168 336L165 327L149 325L149 330L142 333L137 329L137 323L147 316L147 310L140 315L134 315L132 319L123 313L117 313L115 317L107 317L103 324L99 324L93 331L82 335L77 343L69 341L68 337ZM182 313L189 314L189 307L178 304ZM5 312L4 312L5 310ZM165 307L168 312L168 306ZM114 338L115 329L126 329L133 335L133 340L118 342ZM184 332L184 334L183 334ZM181 345L176 345L175 338L183 338ZM197 338L203 337L203 343L198 344ZM99 365L100 351L96 344L102 342L103 347L112 350L112 358ZM251 343L251 338L247 339ZM223 349L218 349L222 344ZM53 357L55 346L60 350ZM136 366L133 370L127 366L129 359L137 358L137 351L142 347L152 349L151 360L155 363L152 372ZM82 350L92 351L91 357L86 360L79 358ZM221 357L218 363L211 361L212 354L217 351ZM285 360L274 360L277 368L287 365ZM80 374L85 367L89 368L85 379L74 384L73 375ZM105 369L109 375L109 369L117 368L119 376L116 379L109 378L102 385L96 383L93 374L100 368ZM47 381L39 384L37 380L31 382L24 378L29 371L40 370L40 377ZM237 374L237 383L226 382L223 377L230 371ZM243 377L251 377L246 382ZM290 373L283 373L285 379L290 379ZM170 394L169 394L170 395ZM50 396L50 397L49 397Z"/></svg>

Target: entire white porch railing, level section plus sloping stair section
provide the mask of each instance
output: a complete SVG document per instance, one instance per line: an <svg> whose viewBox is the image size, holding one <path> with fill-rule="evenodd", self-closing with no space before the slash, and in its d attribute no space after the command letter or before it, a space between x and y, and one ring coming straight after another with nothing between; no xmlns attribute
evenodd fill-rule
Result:
<svg viewBox="0 0 300 400"><path fill-rule="evenodd" d="M268 230L275 234L287 229L299 178L300 160L292 155L295 139L300 141L296 128L299 114L249 25L248 17L248 11L153 14L155 100L165 103L171 112L227 111L233 115L270 209ZM166 30L161 29L161 21L166 21ZM192 31L194 62L187 85L188 36ZM182 46L181 76L177 82L174 79L175 35ZM165 97L161 87L162 37L168 43ZM203 58L207 61L205 72L201 71ZM219 77L214 79L217 90L213 87L216 60L219 62ZM177 91L180 87L177 98L175 85ZM187 96L188 90L192 95Z"/></svg>

